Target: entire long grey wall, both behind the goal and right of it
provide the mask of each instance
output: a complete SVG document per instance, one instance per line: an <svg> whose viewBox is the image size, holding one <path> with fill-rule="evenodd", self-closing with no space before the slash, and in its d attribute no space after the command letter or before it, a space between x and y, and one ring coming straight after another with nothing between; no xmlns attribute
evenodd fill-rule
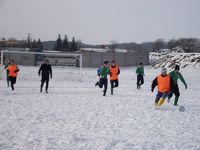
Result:
<svg viewBox="0 0 200 150"><path fill-rule="evenodd" d="M116 60L120 67L137 66L140 62L144 65L149 63L149 53L146 51L127 51L127 52L97 52L97 51L87 51L82 50L82 66L83 67L99 67L103 64L105 60L112 61ZM41 57L41 58L40 58ZM44 55L35 54L15 54L15 53L5 53L4 61L8 59L15 60L18 65L35 66L43 62ZM63 57L54 58L54 56L48 56L50 63L52 65L73 65L79 66L79 61L75 59L69 59ZM74 65L75 64L75 65Z"/></svg>

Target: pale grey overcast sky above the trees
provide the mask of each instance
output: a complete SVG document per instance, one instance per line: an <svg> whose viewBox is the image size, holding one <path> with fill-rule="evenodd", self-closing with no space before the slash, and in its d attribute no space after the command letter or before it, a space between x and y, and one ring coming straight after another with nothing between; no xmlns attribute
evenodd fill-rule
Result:
<svg viewBox="0 0 200 150"><path fill-rule="evenodd" d="M200 0L0 0L0 37L87 44L200 38Z"/></svg>

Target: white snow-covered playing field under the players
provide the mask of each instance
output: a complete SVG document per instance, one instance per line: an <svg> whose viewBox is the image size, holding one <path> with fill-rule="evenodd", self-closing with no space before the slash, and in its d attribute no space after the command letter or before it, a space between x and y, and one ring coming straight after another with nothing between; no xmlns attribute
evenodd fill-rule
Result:
<svg viewBox="0 0 200 150"><path fill-rule="evenodd" d="M0 150L199 150L200 72L182 70L179 104L154 109L150 85L159 70L146 68L136 90L135 68L121 68L114 95L94 87L96 69L53 68L49 93L40 93L38 67L20 66L16 90L0 81ZM110 87L110 85L109 85Z"/></svg>

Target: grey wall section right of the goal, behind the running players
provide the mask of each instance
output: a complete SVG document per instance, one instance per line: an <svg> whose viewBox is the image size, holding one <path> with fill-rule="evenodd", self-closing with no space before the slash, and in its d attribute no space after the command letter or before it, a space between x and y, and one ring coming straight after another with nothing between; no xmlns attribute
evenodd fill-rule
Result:
<svg viewBox="0 0 200 150"><path fill-rule="evenodd" d="M139 62L144 65L149 63L149 54L145 51L132 52L95 52L82 51L83 67L99 67L105 60L113 59L121 67L137 66Z"/></svg>

